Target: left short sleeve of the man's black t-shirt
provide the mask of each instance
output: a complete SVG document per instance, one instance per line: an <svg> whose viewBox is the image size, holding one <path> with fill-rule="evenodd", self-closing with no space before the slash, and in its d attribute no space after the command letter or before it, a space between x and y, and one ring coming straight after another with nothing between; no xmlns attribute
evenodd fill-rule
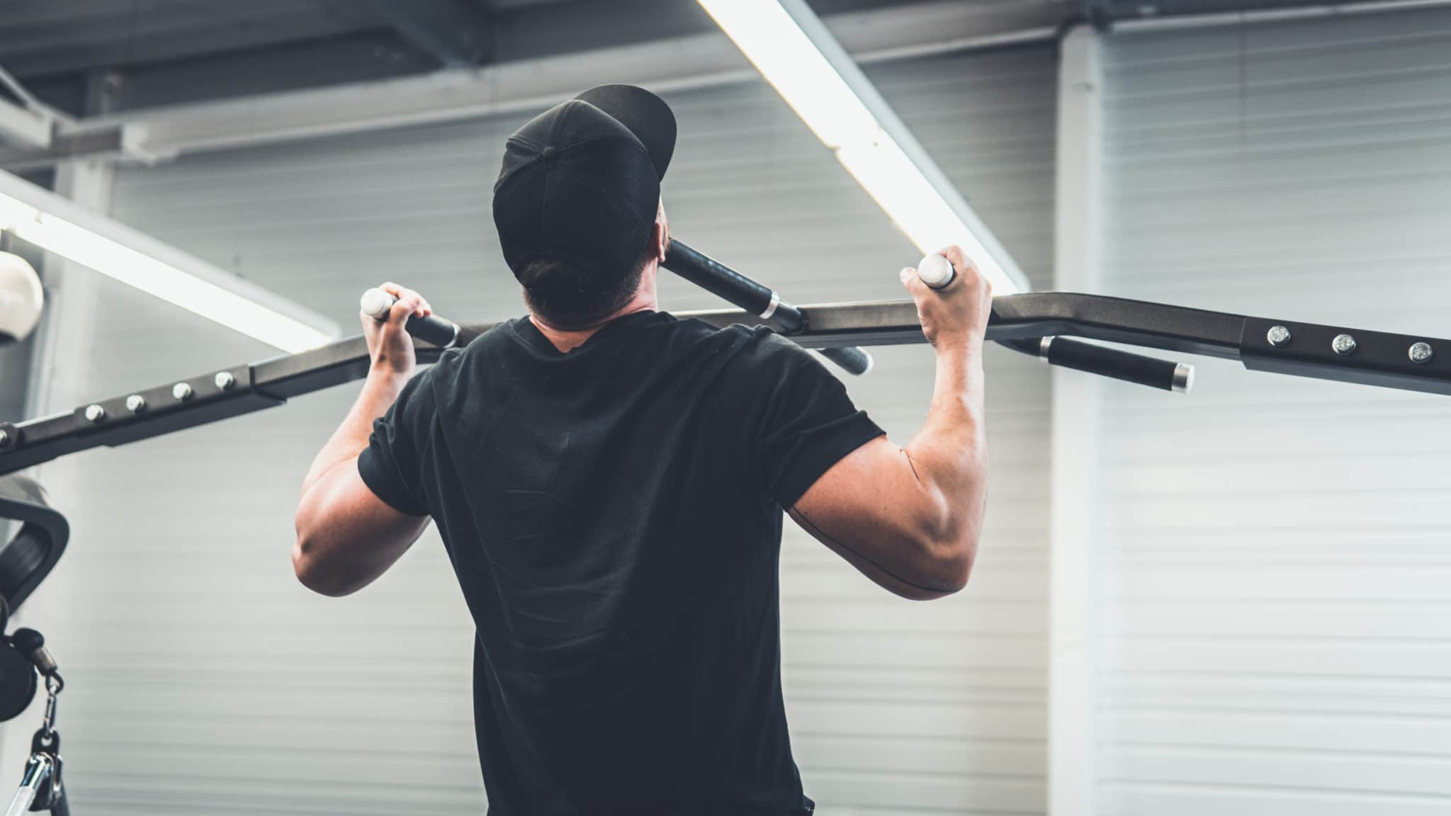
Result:
<svg viewBox="0 0 1451 816"><path fill-rule="evenodd" d="M431 370L408 380L387 414L373 421L369 446L358 454L363 484L405 515L428 515L422 465L435 417Z"/></svg>

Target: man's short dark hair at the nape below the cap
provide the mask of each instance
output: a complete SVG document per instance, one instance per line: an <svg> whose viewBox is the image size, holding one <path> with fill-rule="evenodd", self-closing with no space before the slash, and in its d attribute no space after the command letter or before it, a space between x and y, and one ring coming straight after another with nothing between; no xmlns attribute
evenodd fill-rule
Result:
<svg viewBox="0 0 1451 816"><path fill-rule="evenodd" d="M650 254L643 253L634 269L604 285L579 266L550 257L527 261L518 277L524 302L544 322L563 330L586 328L634 298L649 260Z"/></svg>

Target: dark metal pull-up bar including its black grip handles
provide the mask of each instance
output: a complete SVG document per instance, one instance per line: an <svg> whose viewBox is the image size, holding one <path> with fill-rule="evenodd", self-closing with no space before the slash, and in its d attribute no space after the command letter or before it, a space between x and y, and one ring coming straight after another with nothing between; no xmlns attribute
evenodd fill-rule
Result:
<svg viewBox="0 0 1451 816"><path fill-rule="evenodd" d="M856 346L924 343L911 301L794 306L772 289L675 241L666 267L747 311L679 312L711 325L766 325L860 373ZM434 321L443 322L443 321ZM444 346L418 346L432 363L495 324L448 327ZM414 324L409 330L415 334ZM1187 366L1062 340L1082 337L1239 360L1246 369L1451 395L1451 340L1210 312L1101 295L1036 292L994 298L988 340L1061 364L1164 389L1187 391ZM1444 350L1436 354L1436 350ZM23 423L0 423L0 475L68 453L119 446L284 404L363 379L369 353L350 337L299 354L239 364Z"/></svg>

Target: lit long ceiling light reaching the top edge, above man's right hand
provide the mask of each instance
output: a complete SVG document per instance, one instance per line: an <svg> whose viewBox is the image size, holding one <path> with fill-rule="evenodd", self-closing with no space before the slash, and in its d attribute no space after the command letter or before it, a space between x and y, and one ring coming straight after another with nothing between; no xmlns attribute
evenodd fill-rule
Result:
<svg viewBox="0 0 1451 816"><path fill-rule="evenodd" d="M786 105L923 253L949 244L998 295L1027 279L804 0L699 0Z"/></svg>

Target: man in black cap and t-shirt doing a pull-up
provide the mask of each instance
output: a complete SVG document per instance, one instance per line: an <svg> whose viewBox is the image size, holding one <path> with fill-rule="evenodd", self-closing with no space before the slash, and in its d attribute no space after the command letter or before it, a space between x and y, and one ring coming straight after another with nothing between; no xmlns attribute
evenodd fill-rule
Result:
<svg viewBox="0 0 1451 816"><path fill-rule="evenodd" d="M414 376L415 292L364 318L373 367L318 454L293 563L353 592L432 518L477 627L490 813L811 813L781 695L785 508L887 589L963 587L982 523L988 285L917 301L932 408L887 441L817 359L766 330L657 311L675 118L585 91L505 147L493 218L530 315Z"/></svg>

